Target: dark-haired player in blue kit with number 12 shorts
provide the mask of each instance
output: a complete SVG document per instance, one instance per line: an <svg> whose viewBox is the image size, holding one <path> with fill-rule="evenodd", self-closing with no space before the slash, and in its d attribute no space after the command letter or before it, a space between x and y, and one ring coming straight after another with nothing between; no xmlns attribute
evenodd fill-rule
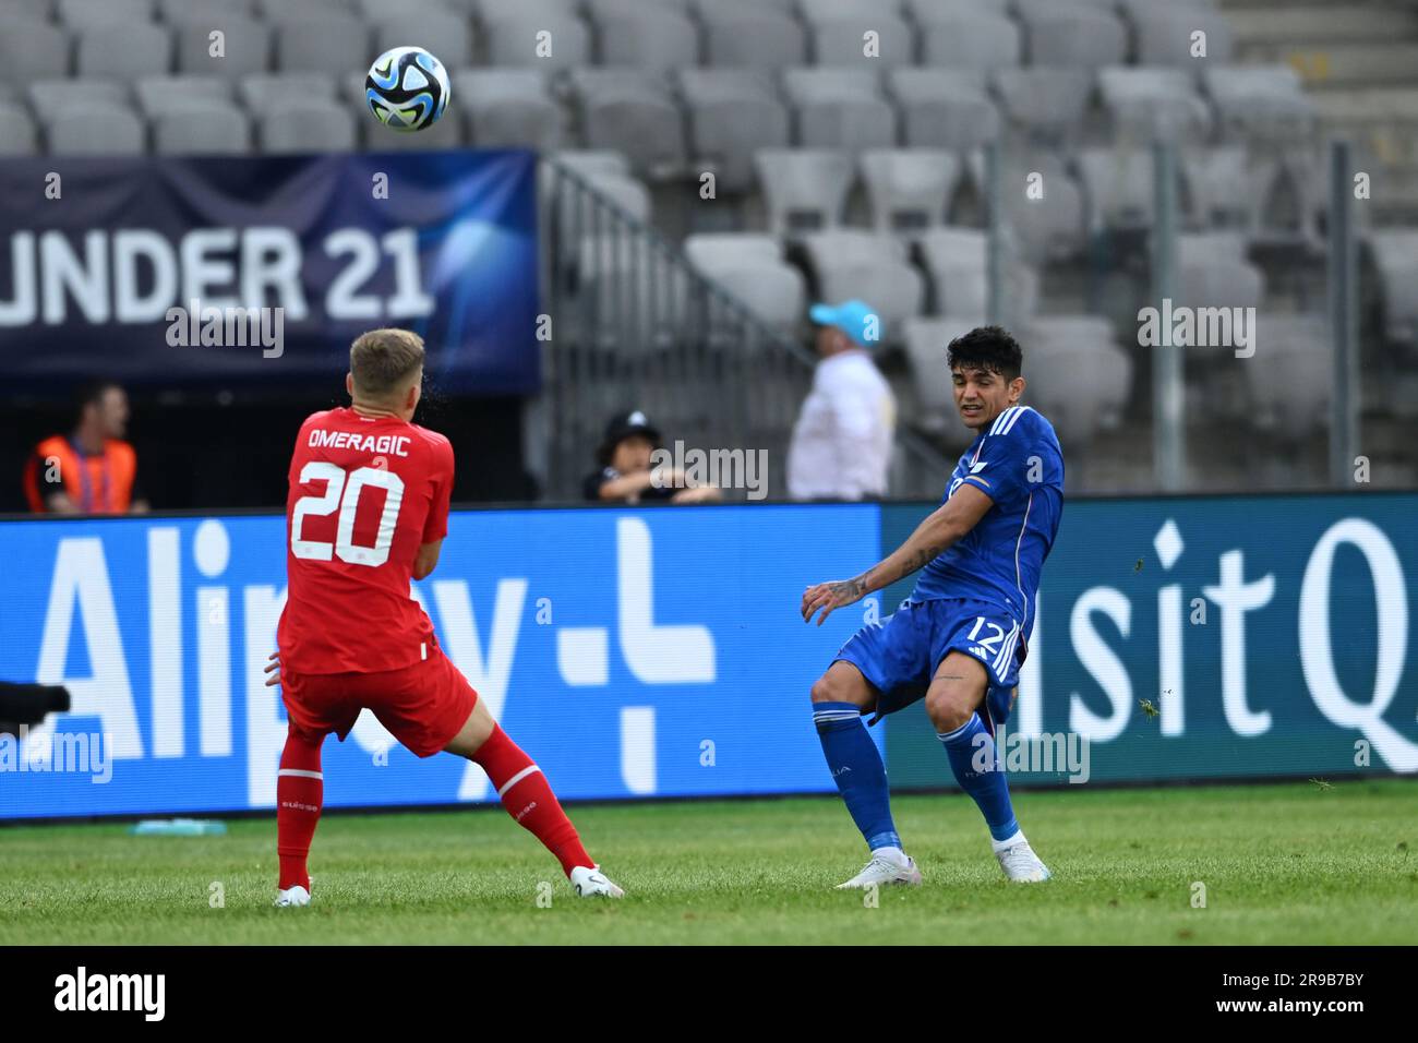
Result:
<svg viewBox="0 0 1418 1043"><path fill-rule="evenodd" d="M1039 570L1064 511L1064 457L1054 427L1028 406L1022 352L998 326L950 342L956 407L976 440L960 457L946 498L889 558L854 579L811 586L803 620L818 626L845 605L917 569L910 597L862 627L813 685L813 719L828 768L871 861L841 887L919 884L891 815L886 769L862 725L925 698L960 786L990 827L1010 880L1049 870L1024 839L994 746L1014 704L1034 627Z"/></svg>

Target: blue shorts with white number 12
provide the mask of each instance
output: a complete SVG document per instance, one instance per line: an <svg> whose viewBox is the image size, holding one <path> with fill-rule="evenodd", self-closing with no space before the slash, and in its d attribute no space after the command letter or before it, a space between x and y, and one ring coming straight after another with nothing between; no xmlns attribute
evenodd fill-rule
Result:
<svg viewBox="0 0 1418 1043"><path fill-rule="evenodd" d="M837 653L876 688L876 724L886 714L925 698L942 660L951 651L974 656L990 675L986 727L1010 717L1024 663L1020 623L998 605L967 600L902 602L891 616L858 630Z"/></svg>

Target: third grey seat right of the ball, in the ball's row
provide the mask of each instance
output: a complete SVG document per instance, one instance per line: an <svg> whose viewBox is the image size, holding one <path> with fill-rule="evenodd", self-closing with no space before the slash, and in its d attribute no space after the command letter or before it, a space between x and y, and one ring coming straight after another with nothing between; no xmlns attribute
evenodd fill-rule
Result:
<svg viewBox="0 0 1418 1043"><path fill-rule="evenodd" d="M692 162L715 170L726 192L752 187L754 152L788 145L788 111L767 72L686 68L679 74L679 92Z"/></svg>

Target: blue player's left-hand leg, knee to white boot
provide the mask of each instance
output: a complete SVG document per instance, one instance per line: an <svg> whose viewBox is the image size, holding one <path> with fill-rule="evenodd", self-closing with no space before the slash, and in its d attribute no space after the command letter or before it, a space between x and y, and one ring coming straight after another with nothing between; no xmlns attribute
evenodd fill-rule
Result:
<svg viewBox="0 0 1418 1043"><path fill-rule="evenodd" d="M841 887L919 884L920 870L900 850L892 820L886 766L862 724L862 710L876 705L876 690L858 667L838 660L813 684L811 698L813 724L828 771L872 853L866 868Z"/></svg>

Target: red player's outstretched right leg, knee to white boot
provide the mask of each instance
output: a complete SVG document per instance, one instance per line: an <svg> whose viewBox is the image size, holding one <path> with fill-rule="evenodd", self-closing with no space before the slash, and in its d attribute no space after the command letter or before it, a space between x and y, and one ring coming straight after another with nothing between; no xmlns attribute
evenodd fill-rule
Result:
<svg viewBox="0 0 1418 1043"><path fill-rule="evenodd" d="M508 815L556 856L577 895L624 897L625 893L586 853L576 826L562 810L542 769L498 727L482 700L474 704L468 721L448 742L447 751L482 766Z"/></svg>

